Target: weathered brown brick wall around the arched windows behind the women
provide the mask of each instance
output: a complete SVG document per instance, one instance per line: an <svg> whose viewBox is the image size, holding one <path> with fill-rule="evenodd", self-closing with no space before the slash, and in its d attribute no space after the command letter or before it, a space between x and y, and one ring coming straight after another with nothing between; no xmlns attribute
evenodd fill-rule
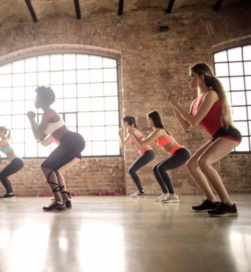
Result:
<svg viewBox="0 0 251 272"><path fill-rule="evenodd" d="M160 25L168 25L170 30L159 32ZM137 116L142 131L148 134L151 131L146 126L146 113L158 110L178 143L194 152L209 139L208 135L199 127L182 132L165 102L166 93L178 92L181 103L189 109L196 93L187 85L188 67L197 61L212 64L214 51L250 42L250 33L250 4L235 4L219 12L197 5L180 7L169 15L149 7L127 11L121 17L108 11L91 13L82 20L52 16L38 23L2 26L0 64L49 52L114 54L121 63L120 115ZM157 194L161 191L151 168L166 154L155 144L152 146L156 159L139 174L147 192ZM117 158L83 159L66 174L69 189L83 194L91 194L98 188L131 193L135 186L127 169L137 153L130 146L122 154ZM229 191L251 191L250 159L250 155L228 155L215 164ZM1 167L6 163L2 162ZM40 163L27 161L26 168L11 177L17 192L38 194L47 189ZM178 193L200 193L185 167L170 174Z"/></svg>

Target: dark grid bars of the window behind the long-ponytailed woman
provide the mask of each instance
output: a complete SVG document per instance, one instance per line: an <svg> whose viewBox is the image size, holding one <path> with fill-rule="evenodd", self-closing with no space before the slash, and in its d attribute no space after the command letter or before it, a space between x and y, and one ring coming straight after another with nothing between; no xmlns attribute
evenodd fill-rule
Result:
<svg viewBox="0 0 251 272"><path fill-rule="evenodd" d="M217 64L221 64L221 63L226 63L227 64L227 70L228 70L228 75L221 75L221 76L218 76L217 73L216 73L216 77L219 78L219 80L221 80L221 78L228 78L228 84L229 84L229 90L227 90L226 92L230 94L230 102L231 102L231 105L230 108L231 108L231 111L232 111L232 114L234 113L233 112L233 109L234 108L238 108L238 107L245 107L245 114L246 114L246 118L245 119L241 119L239 118L240 116L238 116L236 118L236 116L234 116L233 114L233 120L234 120L234 123L235 122L240 122L240 123L245 123L246 125L246 128L247 128L247 134L242 134L242 142L243 142L243 139L246 139L248 140L248 145L244 148L245 150L243 151L238 151L238 147L233 151L233 153L251 153L251 145L250 145L250 139L251 139L251 135L250 135L250 130L251 130L251 127L250 127L250 124L249 122L251 121L251 116L249 116L250 114L248 114L248 107L250 107L251 105L248 104L248 101L247 101L247 92L251 92L251 89L247 89L246 87L246 77L250 77L251 76L251 71L248 70L248 72L246 73L245 71L245 66L244 66L244 63L250 63L251 62L251 59L247 59L247 60L244 60L244 57L243 57L243 47L245 46L248 46L248 45L243 45L243 46L238 46L238 47L233 47L233 48L228 48L228 49L225 49L225 50L222 50L222 51L219 51L219 52L215 52L214 53L214 71L216 71L216 65ZM231 49L234 49L234 48L241 48L241 60L229 60L229 53L228 53L228 50L231 50ZM250 49L251 50L251 47ZM217 53L221 53L221 52L226 52L226 61L215 61L215 55ZM240 75L231 75L231 70L230 70L230 67L229 67L229 63L238 63L238 62L241 62L241 65L242 65L242 70L243 70L243 73ZM232 90L232 84L231 84L231 78L242 78L243 79L243 89L235 89L235 90ZM233 101L233 93L237 93L237 92L243 92L244 93L244 99L245 99L245 105L241 104L241 105L233 105L234 104L234 101Z"/></svg>

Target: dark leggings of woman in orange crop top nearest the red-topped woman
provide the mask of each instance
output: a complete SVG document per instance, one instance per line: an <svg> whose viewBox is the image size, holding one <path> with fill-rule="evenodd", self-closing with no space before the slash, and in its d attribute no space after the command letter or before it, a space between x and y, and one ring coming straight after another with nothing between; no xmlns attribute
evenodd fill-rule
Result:
<svg viewBox="0 0 251 272"><path fill-rule="evenodd" d="M180 148L174 154L157 163L153 167L154 175L159 182L163 193L174 193L172 181L166 171L175 169L185 164L191 158L191 152L186 148Z"/></svg>

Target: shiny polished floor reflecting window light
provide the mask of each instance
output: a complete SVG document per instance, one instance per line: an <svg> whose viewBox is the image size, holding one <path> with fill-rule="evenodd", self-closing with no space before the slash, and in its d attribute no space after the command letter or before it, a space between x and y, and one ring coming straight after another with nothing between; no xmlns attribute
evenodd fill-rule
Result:
<svg viewBox="0 0 251 272"><path fill-rule="evenodd" d="M249 272L251 195L232 195L238 218L193 213L154 197L78 196L47 213L49 197L0 202L2 272Z"/></svg>

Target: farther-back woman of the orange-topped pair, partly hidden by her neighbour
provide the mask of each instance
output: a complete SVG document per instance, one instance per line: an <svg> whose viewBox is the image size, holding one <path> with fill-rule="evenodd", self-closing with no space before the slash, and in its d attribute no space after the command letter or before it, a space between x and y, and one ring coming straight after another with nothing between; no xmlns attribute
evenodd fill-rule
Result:
<svg viewBox="0 0 251 272"><path fill-rule="evenodd" d="M137 134L137 137L142 138L142 133L140 132L136 119L133 116L124 115L121 119L122 127L119 128L119 143L121 147L124 147L128 144L134 145L134 148L139 152L140 157L129 167L128 172L133 179L134 183L138 187L138 191L131 194L134 198L145 198L145 190L143 189L143 186L141 184L141 180L139 175L137 174L137 171L142 168L143 166L147 165L149 162L151 162L155 158L155 153L153 149L150 146L146 146L143 149L138 148L137 145L134 144L134 141L132 140L130 134L127 134L126 138L123 139L122 133L123 129L127 129L129 127L133 127L135 129L135 133Z"/></svg>

